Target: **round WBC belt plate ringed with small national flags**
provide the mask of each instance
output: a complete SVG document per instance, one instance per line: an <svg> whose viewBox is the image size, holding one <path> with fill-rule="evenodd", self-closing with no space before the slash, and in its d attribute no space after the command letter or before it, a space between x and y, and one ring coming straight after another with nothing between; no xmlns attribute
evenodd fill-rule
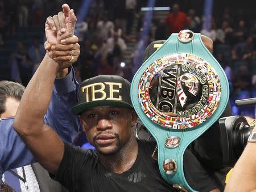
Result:
<svg viewBox="0 0 256 192"><path fill-rule="evenodd" d="M217 72L193 54L175 53L156 59L138 84L143 112L169 129L200 125L217 109L220 96Z"/></svg>

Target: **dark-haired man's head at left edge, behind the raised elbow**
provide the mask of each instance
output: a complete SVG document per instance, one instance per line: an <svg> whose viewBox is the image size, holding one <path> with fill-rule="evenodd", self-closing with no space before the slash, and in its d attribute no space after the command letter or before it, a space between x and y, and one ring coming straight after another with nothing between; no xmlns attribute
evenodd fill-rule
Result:
<svg viewBox="0 0 256 192"><path fill-rule="evenodd" d="M15 117L24 89L20 83L0 81L0 118Z"/></svg>

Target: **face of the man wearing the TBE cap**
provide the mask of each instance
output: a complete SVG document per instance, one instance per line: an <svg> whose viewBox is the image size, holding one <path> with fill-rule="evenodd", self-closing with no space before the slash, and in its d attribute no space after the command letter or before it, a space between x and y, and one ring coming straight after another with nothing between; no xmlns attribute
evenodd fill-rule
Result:
<svg viewBox="0 0 256 192"><path fill-rule="evenodd" d="M117 153L129 144L136 119L134 110L118 106L97 106L80 116L88 142L103 155Z"/></svg>

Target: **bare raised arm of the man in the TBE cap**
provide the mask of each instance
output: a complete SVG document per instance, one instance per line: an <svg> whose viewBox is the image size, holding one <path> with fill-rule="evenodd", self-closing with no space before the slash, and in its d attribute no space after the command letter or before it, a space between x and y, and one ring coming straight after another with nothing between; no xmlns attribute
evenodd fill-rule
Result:
<svg viewBox="0 0 256 192"><path fill-rule="evenodd" d="M67 21L66 27L69 24L75 27L76 16L73 10L68 11L68 18L65 21ZM48 28L48 24L46 23L46 33L47 31L52 32ZM51 57L53 56L51 55ZM64 144L55 131L44 124L43 118L51 100L57 72L67 66L63 66L63 63L59 65L51 57L48 53L46 54L30 83L28 83L16 113L14 129L34 153L39 163L49 172L55 173L63 157ZM71 62L77 59L73 56L69 58Z"/></svg>

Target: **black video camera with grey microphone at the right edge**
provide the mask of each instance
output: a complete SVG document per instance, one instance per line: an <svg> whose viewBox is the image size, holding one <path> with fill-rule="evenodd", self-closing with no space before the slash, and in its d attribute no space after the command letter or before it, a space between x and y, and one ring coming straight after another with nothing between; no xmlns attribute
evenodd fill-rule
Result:
<svg viewBox="0 0 256 192"><path fill-rule="evenodd" d="M256 98L237 100L237 106L255 105ZM220 118L220 146L224 167L233 167L241 156L255 125L250 126L245 117L230 116Z"/></svg>

